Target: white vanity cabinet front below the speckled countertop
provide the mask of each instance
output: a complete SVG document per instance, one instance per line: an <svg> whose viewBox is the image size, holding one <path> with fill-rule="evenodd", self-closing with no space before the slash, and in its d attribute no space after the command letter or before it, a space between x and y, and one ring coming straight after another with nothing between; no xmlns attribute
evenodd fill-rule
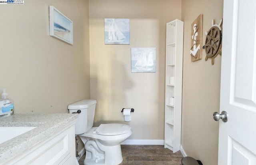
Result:
<svg viewBox="0 0 256 165"><path fill-rule="evenodd" d="M72 123L5 163L10 165L74 165L76 158L74 133L75 126Z"/></svg>

